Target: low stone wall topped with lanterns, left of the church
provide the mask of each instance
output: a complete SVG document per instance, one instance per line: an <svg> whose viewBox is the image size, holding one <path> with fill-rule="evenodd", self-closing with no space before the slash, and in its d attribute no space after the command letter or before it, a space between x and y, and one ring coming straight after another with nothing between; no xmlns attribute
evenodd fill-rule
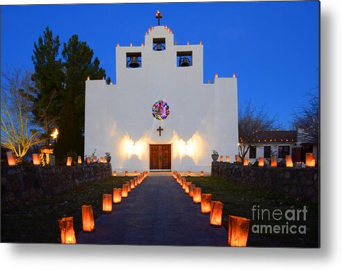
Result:
<svg viewBox="0 0 342 270"><path fill-rule="evenodd" d="M79 166L1 167L1 208L53 195L112 175L110 163Z"/></svg>

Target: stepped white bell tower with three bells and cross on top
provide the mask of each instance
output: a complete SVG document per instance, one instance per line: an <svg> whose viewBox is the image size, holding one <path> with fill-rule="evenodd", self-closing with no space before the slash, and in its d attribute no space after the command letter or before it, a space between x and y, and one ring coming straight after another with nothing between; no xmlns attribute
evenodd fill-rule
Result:
<svg viewBox="0 0 342 270"><path fill-rule="evenodd" d="M178 44L171 28L160 25L159 10L155 18L158 26L148 28L141 46L117 46L117 84L149 78L162 86L170 78L179 80L178 77L191 80L191 88L202 84L203 45Z"/></svg>

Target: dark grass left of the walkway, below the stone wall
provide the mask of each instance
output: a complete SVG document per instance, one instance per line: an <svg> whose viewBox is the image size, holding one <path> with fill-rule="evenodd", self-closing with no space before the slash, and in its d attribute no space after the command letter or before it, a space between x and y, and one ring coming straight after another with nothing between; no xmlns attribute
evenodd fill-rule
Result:
<svg viewBox="0 0 342 270"><path fill-rule="evenodd" d="M1 242L60 243L57 219L74 217L77 235L82 230L82 210L93 206L94 218L102 214L102 195L121 188L128 177L109 177L96 183L42 197L13 210L1 210Z"/></svg>

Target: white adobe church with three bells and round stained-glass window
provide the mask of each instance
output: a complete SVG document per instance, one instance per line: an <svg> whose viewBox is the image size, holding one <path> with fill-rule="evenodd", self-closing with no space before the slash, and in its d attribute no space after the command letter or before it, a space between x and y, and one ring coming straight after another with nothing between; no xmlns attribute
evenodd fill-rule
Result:
<svg viewBox="0 0 342 270"><path fill-rule="evenodd" d="M167 26L116 48L117 84L85 84L85 154L112 170L210 172L212 151L238 153L237 78L203 83L203 45L178 45Z"/></svg>

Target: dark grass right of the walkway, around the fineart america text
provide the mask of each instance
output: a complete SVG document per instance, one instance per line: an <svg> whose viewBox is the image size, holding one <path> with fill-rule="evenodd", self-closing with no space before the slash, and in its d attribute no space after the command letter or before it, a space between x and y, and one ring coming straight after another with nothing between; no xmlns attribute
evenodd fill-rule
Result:
<svg viewBox="0 0 342 270"><path fill-rule="evenodd" d="M307 206L307 220L304 222L289 222L291 225L305 225L306 234L291 233L252 233L248 238L248 246L318 246L319 235L319 214L318 204L303 203L287 199L280 195L274 195L262 190L248 188L241 184L220 179L216 177L187 177L187 181L191 181L197 187L201 188L202 193L212 193L212 200L223 202L223 226L228 229L228 215L237 215L251 219L250 226L264 224L268 225L286 225L287 219L279 221L273 219L268 220L268 214L265 210L264 217L267 220L252 220L252 207L259 206L259 209L268 209L272 213L275 209L280 209L284 213L288 209L299 210L303 206ZM261 211L259 212L261 213ZM261 218L261 215L259 216ZM276 216L277 217L277 216ZM300 215L302 218L303 216ZM277 217L278 218L278 217ZM257 212L255 211L255 219ZM298 227L297 227L298 228Z"/></svg>

